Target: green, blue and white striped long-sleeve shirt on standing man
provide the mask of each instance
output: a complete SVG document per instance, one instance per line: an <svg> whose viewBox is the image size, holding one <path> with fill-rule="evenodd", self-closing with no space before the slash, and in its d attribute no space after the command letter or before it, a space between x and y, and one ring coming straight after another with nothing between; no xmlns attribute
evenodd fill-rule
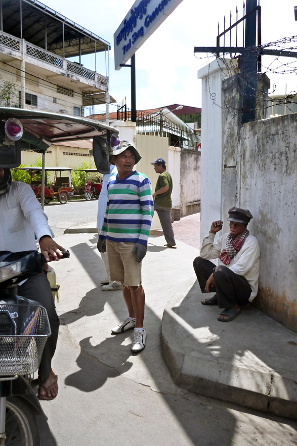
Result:
<svg viewBox="0 0 297 446"><path fill-rule="evenodd" d="M122 180L118 175L112 176L107 189L107 205L99 238L147 245L154 215L152 186L148 177L135 170Z"/></svg>

